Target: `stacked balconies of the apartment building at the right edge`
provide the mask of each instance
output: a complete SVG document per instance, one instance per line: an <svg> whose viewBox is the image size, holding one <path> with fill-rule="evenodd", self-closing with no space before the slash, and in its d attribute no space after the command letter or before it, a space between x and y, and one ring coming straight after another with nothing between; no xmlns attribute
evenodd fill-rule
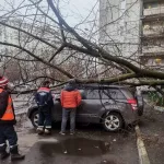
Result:
<svg viewBox="0 0 164 164"><path fill-rule="evenodd" d="M164 69L164 1L142 0L140 59L151 69Z"/></svg>

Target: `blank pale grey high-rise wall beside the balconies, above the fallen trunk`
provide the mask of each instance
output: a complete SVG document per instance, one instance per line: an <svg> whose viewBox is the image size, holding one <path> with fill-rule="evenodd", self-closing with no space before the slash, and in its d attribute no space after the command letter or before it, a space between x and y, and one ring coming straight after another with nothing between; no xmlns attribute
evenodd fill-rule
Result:
<svg viewBox="0 0 164 164"><path fill-rule="evenodd" d="M138 56L140 0L99 0L99 44L114 56Z"/></svg>

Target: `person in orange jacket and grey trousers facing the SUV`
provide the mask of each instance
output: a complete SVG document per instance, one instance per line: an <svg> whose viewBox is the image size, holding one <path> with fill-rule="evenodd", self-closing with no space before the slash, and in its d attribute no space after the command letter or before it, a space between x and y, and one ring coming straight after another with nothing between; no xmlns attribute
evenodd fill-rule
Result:
<svg viewBox="0 0 164 164"><path fill-rule="evenodd" d="M61 91L62 122L60 134L66 134L66 126L70 114L70 134L74 134L75 112L81 103L81 94L75 89L75 80L70 80L68 85Z"/></svg>

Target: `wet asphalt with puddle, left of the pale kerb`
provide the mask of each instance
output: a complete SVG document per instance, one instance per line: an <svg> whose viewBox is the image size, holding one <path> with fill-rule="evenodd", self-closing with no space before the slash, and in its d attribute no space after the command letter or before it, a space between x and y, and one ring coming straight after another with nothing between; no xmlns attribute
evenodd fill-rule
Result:
<svg viewBox="0 0 164 164"><path fill-rule="evenodd" d="M14 164L139 164L133 131L105 132L89 125L78 126L75 136L60 136L60 125L55 125L51 137L38 137L30 121L19 126L19 144L26 159ZM10 159L1 164L11 164Z"/></svg>

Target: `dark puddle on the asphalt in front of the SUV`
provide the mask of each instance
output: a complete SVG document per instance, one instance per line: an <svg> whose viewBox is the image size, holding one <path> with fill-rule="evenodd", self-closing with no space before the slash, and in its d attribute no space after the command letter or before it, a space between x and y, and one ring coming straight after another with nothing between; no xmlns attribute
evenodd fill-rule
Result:
<svg viewBox="0 0 164 164"><path fill-rule="evenodd" d="M98 140L85 138L67 139L57 143L40 143L39 151L43 156L55 154L73 156L97 156L109 151L110 144Z"/></svg>

